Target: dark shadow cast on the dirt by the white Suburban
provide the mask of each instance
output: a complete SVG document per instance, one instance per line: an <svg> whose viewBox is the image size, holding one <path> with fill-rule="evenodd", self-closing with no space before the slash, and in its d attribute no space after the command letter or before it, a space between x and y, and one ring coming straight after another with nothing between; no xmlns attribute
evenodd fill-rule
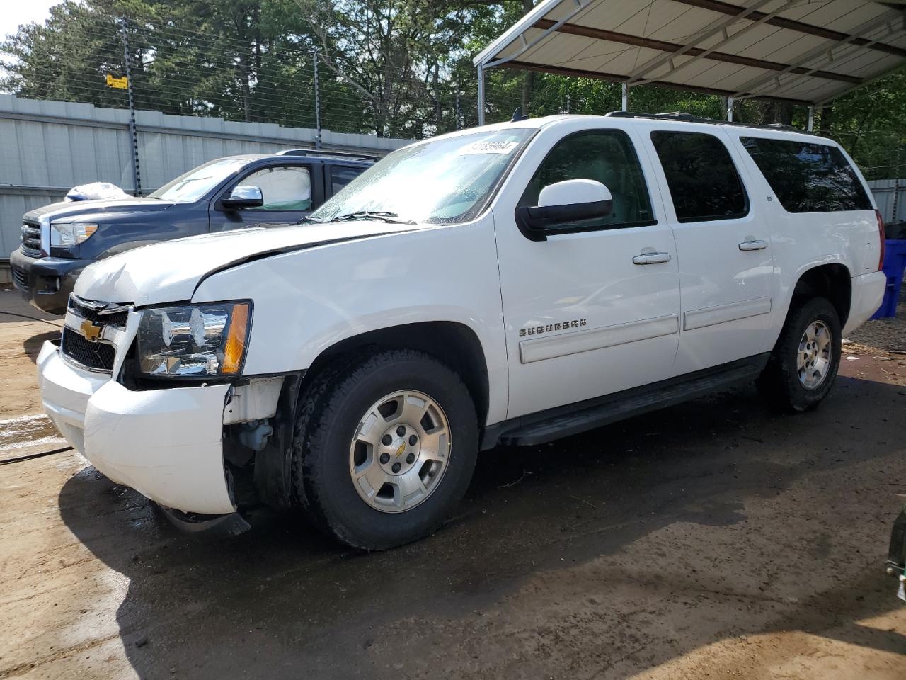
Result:
<svg viewBox="0 0 906 680"><path fill-rule="evenodd" d="M896 400L906 404L904 395L901 387L841 378L821 409L778 416L745 388L554 444L497 449L480 458L455 518L429 539L384 553L342 549L299 517L264 508L246 510L254 529L238 537L181 534L148 501L92 469L64 484L59 505L67 527L93 555L130 579L117 622L125 654L142 678L427 677L438 670L488 677L494 668L511 667L502 665L504 658L521 663L522 675L535 676L549 668L533 656L540 643L529 644L525 636L545 636L548 610L556 608L545 600L545 583L573 578L575 569L591 563L619 570L634 543L671 525L737 527L749 520L747 507L778 502L803 478L834 473L848 479L847 471L867 462L880 469L891 448L880 442L892 445L902 435L901 424L880 412ZM873 507L886 501L860 496L850 502ZM792 550L785 573L772 578L805 584L828 567L842 528L809 526L803 510L795 510L799 514L783 527L748 529L774 532L784 544L777 556ZM889 530L889 522L878 522L878 545L885 545ZM780 559L762 556L759 564L751 548L734 542L742 540L738 533L725 533L729 542L694 554L679 544L648 555L648 564L639 565L649 574L640 577L641 586L660 588L667 597L715 564L760 573ZM839 593L791 586L798 597L787 599L797 601L770 602L776 613L766 609L761 618L734 610L733 625L719 635L833 629L854 644L906 654L903 636L856 627L857 620L899 607L892 581L881 573L882 552L868 557L871 566L838 584ZM675 582L664 584L659 573ZM625 588L636 588L632 574L623 576ZM538 603L516 609L518 620L507 624L516 632L501 639L483 628L488 612L516 607L524 588L538 589ZM589 649L603 647L594 650L597 672L575 675L622 677L715 641L705 625L700 634L679 639L646 632L651 624L636 622L632 629L616 604L595 599L611 591L599 582L583 588L566 604L592 607L604 630L629 630L587 640ZM853 588L872 597L855 601ZM685 609L682 623L698 630L697 619L716 616L718 605L710 607ZM589 634L575 624L568 635L581 642ZM651 644L644 656L633 656L644 635ZM561 655L570 649L585 654L584 647L564 645Z"/></svg>

